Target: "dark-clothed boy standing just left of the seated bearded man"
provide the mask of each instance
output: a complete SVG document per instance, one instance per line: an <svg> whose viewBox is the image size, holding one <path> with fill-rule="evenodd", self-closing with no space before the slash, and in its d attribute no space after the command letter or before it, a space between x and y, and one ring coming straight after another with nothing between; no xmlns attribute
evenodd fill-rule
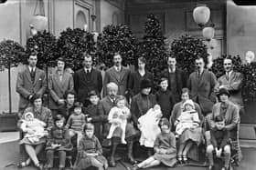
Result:
<svg viewBox="0 0 256 170"><path fill-rule="evenodd" d="M89 92L89 100L91 105L88 105L85 109L85 115L87 115L87 122L92 123L94 125L94 135L98 137L101 141L101 116L98 112L98 105L99 105L99 95L97 92L92 90Z"/></svg>

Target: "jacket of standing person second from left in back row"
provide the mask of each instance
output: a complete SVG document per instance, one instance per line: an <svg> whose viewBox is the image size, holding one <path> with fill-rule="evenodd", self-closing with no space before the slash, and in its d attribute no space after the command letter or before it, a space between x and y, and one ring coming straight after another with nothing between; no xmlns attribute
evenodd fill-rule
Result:
<svg viewBox="0 0 256 170"><path fill-rule="evenodd" d="M73 88L73 77L68 72L64 72L62 75L62 81L59 80L58 72L50 75L48 78L48 90L50 94L48 107L50 109L58 109L59 99L64 99L65 93Z"/></svg>

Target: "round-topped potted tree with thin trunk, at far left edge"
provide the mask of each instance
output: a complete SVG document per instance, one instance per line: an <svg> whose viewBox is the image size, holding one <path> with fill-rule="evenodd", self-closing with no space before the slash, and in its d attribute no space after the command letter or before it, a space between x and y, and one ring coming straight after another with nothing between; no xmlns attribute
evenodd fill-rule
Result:
<svg viewBox="0 0 256 170"><path fill-rule="evenodd" d="M25 49L13 40L0 42L0 71L8 69L8 113L0 115L0 131L16 130L17 113L12 111L12 91L11 91L11 68L17 66L25 58Z"/></svg>

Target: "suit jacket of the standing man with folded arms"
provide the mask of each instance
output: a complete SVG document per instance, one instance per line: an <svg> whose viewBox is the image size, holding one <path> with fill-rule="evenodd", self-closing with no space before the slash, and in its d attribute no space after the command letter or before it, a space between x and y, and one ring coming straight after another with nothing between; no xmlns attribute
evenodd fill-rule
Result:
<svg viewBox="0 0 256 170"><path fill-rule="evenodd" d="M243 107L243 100L241 95L242 81L243 75L234 71L231 73L229 79L226 75L222 75L218 79L219 85L225 85L225 87L229 90L229 100L234 104L239 105L240 108Z"/></svg>

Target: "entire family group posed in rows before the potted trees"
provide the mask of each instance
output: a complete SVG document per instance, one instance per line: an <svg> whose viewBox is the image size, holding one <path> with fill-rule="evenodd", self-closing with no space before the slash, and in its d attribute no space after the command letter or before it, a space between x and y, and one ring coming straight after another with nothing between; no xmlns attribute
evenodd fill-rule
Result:
<svg viewBox="0 0 256 170"><path fill-rule="evenodd" d="M176 58L168 56L168 67L158 77L158 91L153 91L154 76L145 69L144 57L138 58L133 72L122 65L119 53L112 61L102 78L101 71L92 67L91 55L84 54L84 67L73 75L65 71L65 61L59 58L56 71L46 77L36 66L37 54L29 55L28 65L16 81L19 126L24 132L20 145L29 155L21 166L32 161L39 169L50 169L58 152L59 169L63 169L67 151L74 147L70 138L76 135L77 169L115 166L120 144L127 145L133 170L160 163L173 167L187 163L188 158L197 160L189 152L202 143L207 145L209 170L214 167L213 154L222 153L223 170L229 168L229 138L237 138L236 127L243 113L243 75L233 71L231 58L224 59L226 74L217 79L205 68L203 58L196 59L196 71L187 76L176 67ZM47 88L48 107L42 105ZM209 133L203 124L208 124ZM148 156L140 164L133 158L136 141ZM111 146L109 161L102 155L101 145ZM37 154L44 148L47 164L43 167Z"/></svg>

